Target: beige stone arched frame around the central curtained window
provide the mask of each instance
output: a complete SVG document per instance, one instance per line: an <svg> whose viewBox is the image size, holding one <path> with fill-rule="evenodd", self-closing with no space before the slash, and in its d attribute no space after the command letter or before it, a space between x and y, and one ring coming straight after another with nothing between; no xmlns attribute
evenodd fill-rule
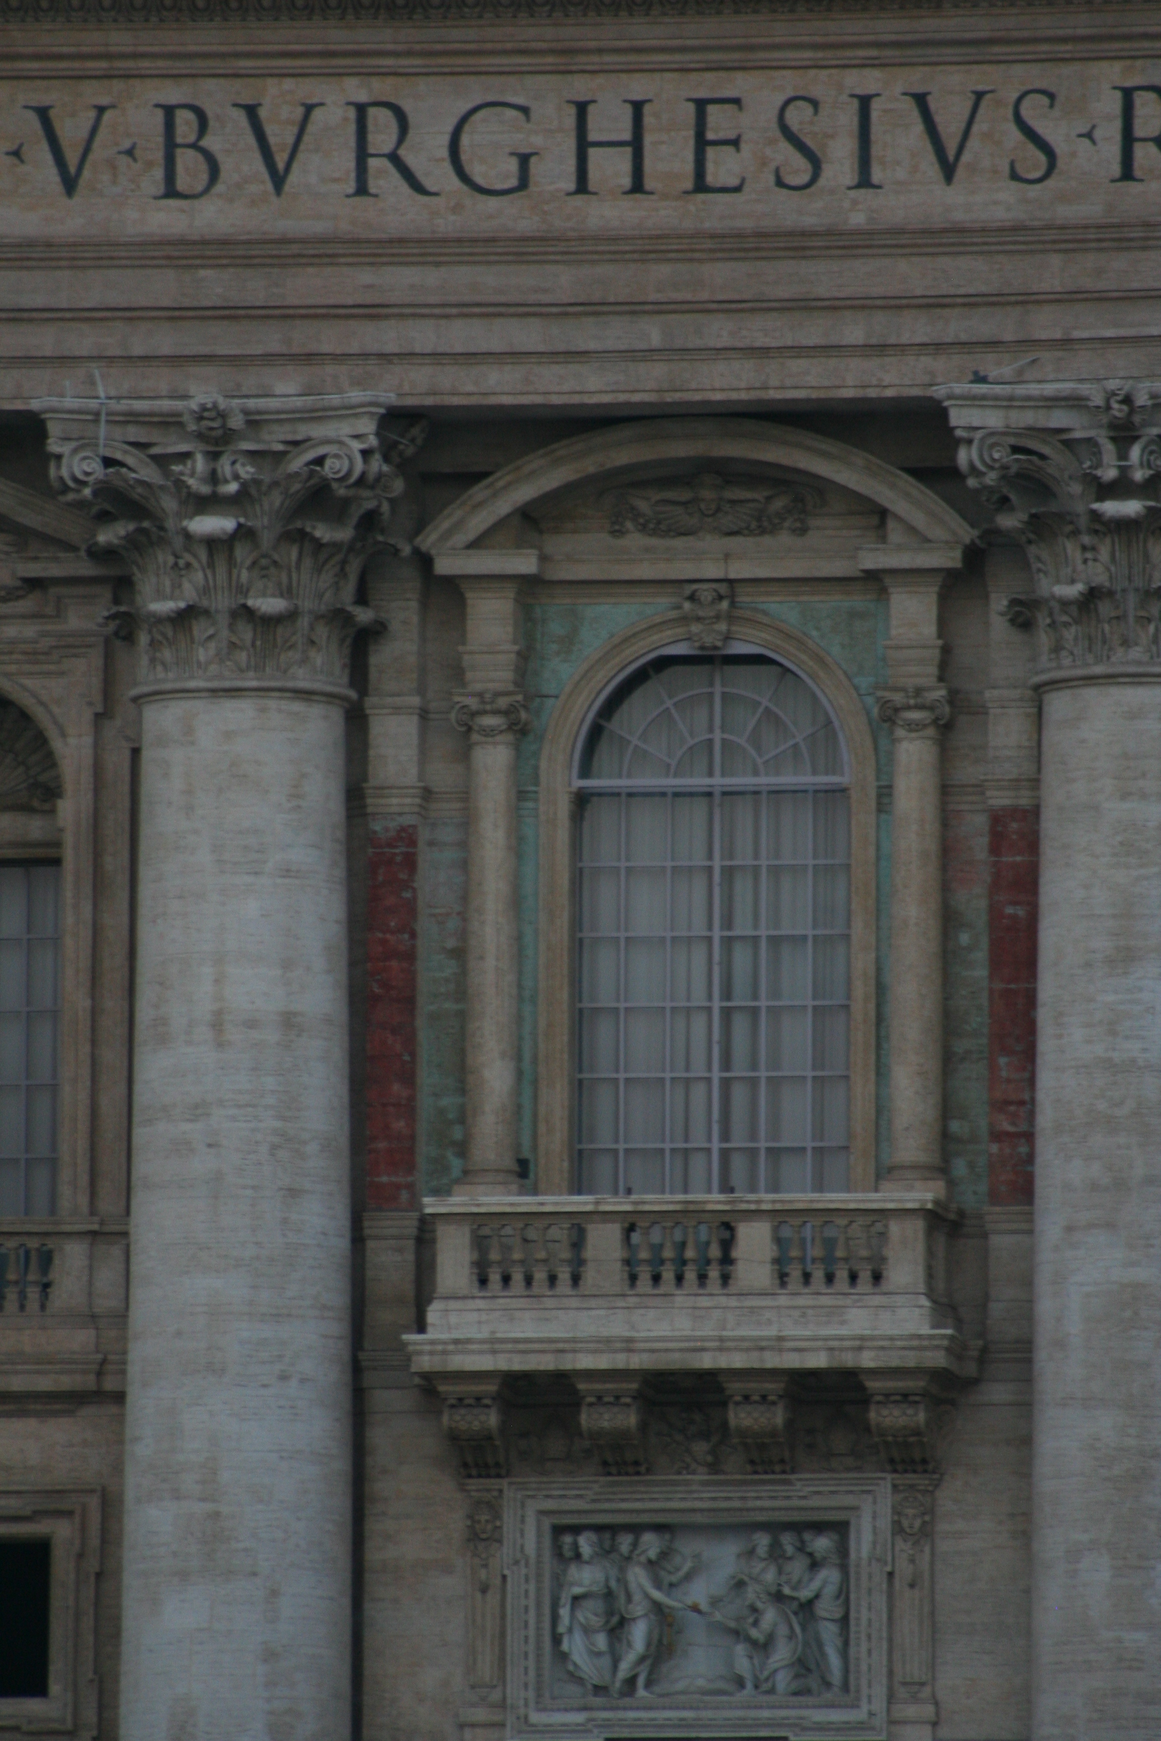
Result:
<svg viewBox="0 0 1161 1741"><path fill-rule="evenodd" d="M851 1191L876 1187L876 750L851 679L804 634L757 611L731 615L731 642L790 665L825 700L849 759L851 803ZM616 684L663 651L693 653L679 613L635 623L566 684L540 756L540 971L536 1175L541 1194L574 1191L576 1154L576 768L585 729Z"/></svg>

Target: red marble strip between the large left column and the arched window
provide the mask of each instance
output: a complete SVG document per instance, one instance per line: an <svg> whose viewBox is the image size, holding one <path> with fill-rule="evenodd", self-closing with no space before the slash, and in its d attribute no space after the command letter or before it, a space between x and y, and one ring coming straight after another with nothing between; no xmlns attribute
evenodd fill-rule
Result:
<svg viewBox="0 0 1161 1741"><path fill-rule="evenodd" d="M416 1208L418 829L371 832L367 865L367 1208Z"/></svg>

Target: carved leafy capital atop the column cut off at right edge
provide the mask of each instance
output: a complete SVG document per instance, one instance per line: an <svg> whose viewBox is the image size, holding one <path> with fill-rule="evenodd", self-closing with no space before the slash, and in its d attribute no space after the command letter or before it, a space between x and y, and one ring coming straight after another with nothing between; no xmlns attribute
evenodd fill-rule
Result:
<svg viewBox="0 0 1161 1741"><path fill-rule="evenodd" d="M1029 594L1004 615L1044 674L1161 663L1161 383L938 387L959 468L1017 538Z"/></svg>

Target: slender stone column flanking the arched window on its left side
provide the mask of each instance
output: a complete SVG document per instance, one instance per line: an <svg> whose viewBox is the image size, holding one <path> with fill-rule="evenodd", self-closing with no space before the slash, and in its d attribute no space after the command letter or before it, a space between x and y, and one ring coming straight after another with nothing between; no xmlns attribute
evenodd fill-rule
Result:
<svg viewBox="0 0 1161 1741"><path fill-rule="evenodd" d="M435 557L466 602L460 649L466 689L453 723L468 735L468 914L465 1166L460 1196L519 1189L519 841L515 756L529 712L520 691L519 594L533 550L456 550Z"/></svg>

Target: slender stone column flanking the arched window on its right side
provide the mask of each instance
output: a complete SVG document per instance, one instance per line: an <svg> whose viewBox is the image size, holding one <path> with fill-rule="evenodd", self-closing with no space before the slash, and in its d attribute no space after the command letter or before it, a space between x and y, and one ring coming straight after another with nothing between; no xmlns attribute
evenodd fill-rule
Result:
<svg viewBox="0 0 1161 1741"><path fill-rule="evenodd" d="M943 1189L943 792L940 735L950 719L940 682L940 587L959 548L881 547L860 566L891 604L891 1161L888 1189Z"/></svg>

